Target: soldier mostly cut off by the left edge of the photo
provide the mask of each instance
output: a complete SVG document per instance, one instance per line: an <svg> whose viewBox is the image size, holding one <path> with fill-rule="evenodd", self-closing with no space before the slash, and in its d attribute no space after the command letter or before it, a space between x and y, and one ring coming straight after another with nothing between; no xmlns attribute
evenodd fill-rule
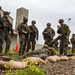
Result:
<svg viewBox="0 0 75 75"><path fill-rule="evenodd" d="M1 7L0 7L1 10ZM4 26L1 20L1 13L0 13L0 55L2 55L3 50L3 41L4 41L4 34L3 34Z"/></svg>

